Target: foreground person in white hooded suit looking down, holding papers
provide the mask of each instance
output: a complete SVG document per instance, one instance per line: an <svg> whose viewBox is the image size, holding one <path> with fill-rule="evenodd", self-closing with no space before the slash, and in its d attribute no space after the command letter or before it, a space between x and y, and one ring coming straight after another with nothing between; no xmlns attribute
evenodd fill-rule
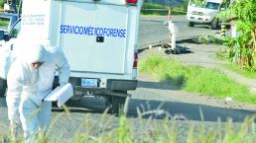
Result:
<svg viewBox="0 0 256 143"><path fill-rule="evenodd" d="M22 48L23 47L23 48ZM25 142L33 142L51 120L51 102L43 99L52 91L56 70L59 83L69 78L69 65L59 47L40 44L22 45L7 76L7 107L10 125L16 132L21 121Z"/></svg>

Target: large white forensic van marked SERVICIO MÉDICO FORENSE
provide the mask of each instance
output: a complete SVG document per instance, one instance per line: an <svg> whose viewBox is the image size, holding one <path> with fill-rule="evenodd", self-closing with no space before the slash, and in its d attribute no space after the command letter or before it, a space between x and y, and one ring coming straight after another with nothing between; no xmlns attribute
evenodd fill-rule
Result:
<svg viewBox="0 0 256 143"><path fill-rule="evenodd" d="M142 3L143 0L23 0L21 20L14 26L19 30L18 36L6 44L14 51L15 44L24 39L62 47L70 64L74 98L102 96L110 110L118 111L129 96L127 91L137 87ZM5 78L1 77L1 83ZM1 87L2 93L5 88Z"/></svg>

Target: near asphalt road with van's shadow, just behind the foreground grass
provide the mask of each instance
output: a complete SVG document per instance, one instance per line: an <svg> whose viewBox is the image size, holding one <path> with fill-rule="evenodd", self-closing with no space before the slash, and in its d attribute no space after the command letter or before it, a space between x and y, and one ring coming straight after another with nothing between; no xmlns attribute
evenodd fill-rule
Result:
<svg viewBox="0 0 256 143"><path fill-rule="evenodd" d="M0 133L7 134L8 119L5 99L0 99ZM119 117L115 114L103 114L104 100L103 98L95 99L86 97L79 102L69 102L67 106L70 114L64 113L64 109L54 107L52 125L49 129L49 137L59 138L64 142L69 142L75 135L78 128L84 125L84 130L91 126L95 126L95 135L102 130L103 124L110 120L107 130L118 127ZM151 95L148 99L130 99L128 102L127 118L132 122L132 129L138 137L148 133L147 128L152 125L152 118L156 120L154 123L161 123L163 118L177 120L176 126L179 127L178 142L185 142L188 135L188 128L192 124L203 125L208 128L217 126L217 120L227 121L232 119L233 122L242 122L246 116L251 116L254 112L242 109L230 109L223 107L209 107L196 104L178 103L161 100L152 100ZM140 116L140 117L139 117ZM256 120L255 120L256 122ZM224 126L224 124L223 124ZM224 128L224 127L223 127ZM22 137L22 131L20 131Z"/></svg>

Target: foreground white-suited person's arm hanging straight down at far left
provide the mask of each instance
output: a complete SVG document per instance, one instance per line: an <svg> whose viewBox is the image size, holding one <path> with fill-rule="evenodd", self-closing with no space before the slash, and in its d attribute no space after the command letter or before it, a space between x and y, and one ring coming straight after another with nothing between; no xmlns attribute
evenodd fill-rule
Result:
<svg viewBox="0 0 256 143"><path fill-rule="evenodd" d="M7 76L8 90L6 103L8 107L8 118L11 123L20 122L19 106L24 84L23 79L23 70L21 66L19 65L19 63L14 62L11 65Z"/></svg>

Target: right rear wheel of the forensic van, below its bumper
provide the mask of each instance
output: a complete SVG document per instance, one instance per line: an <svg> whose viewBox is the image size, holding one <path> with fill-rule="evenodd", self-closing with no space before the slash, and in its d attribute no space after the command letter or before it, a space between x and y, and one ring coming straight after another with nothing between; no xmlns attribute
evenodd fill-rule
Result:
<svg viewBox="0 0 256 143"><path fill-rule="evenodd" d="M108 96L106 106L109 107L109 113L121 113L127 97ZM121 112L120 112L121 111Z"/></svg>

